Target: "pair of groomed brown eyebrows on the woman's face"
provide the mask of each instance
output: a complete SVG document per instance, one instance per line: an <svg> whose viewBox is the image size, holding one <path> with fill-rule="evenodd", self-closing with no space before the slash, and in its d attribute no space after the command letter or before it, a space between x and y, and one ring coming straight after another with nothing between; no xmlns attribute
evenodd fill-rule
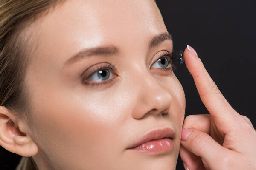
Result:
<svg viewBox="0 0 256 170"><path fill-rule="evenodd" d="M149 49L159 45L161 42L165 40L171 40L173 43L172 35L169 32L165 32L165 33L154 36L149 43ZM70 57L64 63L64 65L65 66L70 65L88 56L113 56L119 53L120 53L119 48L113 45L86 48L84 50L79 51L77 54L73 55L72 57Z"/></svg>

